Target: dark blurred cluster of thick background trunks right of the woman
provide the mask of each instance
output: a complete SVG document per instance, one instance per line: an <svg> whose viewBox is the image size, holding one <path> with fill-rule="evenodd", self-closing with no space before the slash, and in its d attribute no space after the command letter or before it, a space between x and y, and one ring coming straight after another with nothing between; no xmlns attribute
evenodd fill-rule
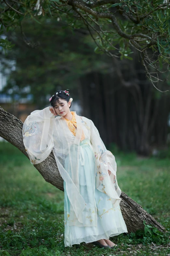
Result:
<svg viewBox="0 0 170 256"><path fill-rule="evenodd" d="M108 74L79 78L82 115L93 120L106 145L150 156L153 148L168 147L170 94L150 86L136 61L128 64L117 61Z"/></svg>

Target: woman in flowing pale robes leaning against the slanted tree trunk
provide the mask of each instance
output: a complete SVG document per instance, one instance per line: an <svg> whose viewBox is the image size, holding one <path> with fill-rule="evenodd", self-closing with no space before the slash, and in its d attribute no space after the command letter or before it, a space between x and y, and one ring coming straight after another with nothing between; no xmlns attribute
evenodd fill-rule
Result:
<svg viewBox="0 0 170 256"><path fill-rule="evenodd" d="M115 157L92 120L70 111L68 91L59 90L49 100L51 107L35 110L25 120L23 143L32 164L54 153L64 180L64 245L113 248L117 245L109 236L127 232Z"/></svg>

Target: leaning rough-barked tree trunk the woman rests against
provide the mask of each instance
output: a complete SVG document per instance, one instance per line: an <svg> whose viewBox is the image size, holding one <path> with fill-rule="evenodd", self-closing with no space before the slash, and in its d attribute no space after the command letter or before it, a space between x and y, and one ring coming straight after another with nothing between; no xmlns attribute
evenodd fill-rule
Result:
<svg viewBox="0 0 170 256"><path fill-rule="evenodd" d="M21 120L0 107L0 136L19 148L20 151L28 157L22 140L22 126L23 123ZM53 151L51 151L50 156L46 160L35 164L34 167L47 182L50 182L56 188L64 191L63 179L60 176ZM120 197L122 198L120 208L128 232L144 229L144 220L147 224L153 224L158 230L165 231L165 228L159 222L124 192L121 193Z"/></svg>

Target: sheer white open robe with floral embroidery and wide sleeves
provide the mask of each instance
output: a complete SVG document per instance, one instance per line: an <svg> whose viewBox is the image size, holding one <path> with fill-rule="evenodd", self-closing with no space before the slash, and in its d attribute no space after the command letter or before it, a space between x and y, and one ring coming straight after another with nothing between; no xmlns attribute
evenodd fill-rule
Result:
<svg viewBox="0 0 170 256"><path fill-rule="evenodd" d="M76 136L69 130L64 117L56 118L49 107L33 111L23 124L23 143L30 162L38 164L44 161L53 150L61 177L66 184L66 193L70 201L69 226L96 227L97 208L94 207L94 221L89 224L86 202L79 192L79 159L81 156L80 139L82 130L85 139L95 156L95 186L102 193L110 196L113 207L120 204L121 190L116 179L117 165L114 155L108 151L100 138L92 120L80 117L75 112L77 122ZM69 162L67 169L65 159ZM109 176L108 170L111 171ZM74 220L74 221L73 221Z"/></svg>

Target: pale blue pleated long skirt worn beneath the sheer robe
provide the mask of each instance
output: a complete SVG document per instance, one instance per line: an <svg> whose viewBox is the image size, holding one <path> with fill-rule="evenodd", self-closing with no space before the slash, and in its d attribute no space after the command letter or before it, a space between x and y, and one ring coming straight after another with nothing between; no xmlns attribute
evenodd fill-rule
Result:
<svg viewBox="0 0 170 256"><path fill-rule="evenodd" d="M94 196L97 207L97 227L69 226L70 201L64 181L64 246L72 247L81 242L90 243L99 239L109 239L127 231L120 206L114 207L110 196L95 188L95 156L85 139L80 142L79 162L80 194L86 201L87 196ZM65 168L67 162L65 161Z"/></svg>

